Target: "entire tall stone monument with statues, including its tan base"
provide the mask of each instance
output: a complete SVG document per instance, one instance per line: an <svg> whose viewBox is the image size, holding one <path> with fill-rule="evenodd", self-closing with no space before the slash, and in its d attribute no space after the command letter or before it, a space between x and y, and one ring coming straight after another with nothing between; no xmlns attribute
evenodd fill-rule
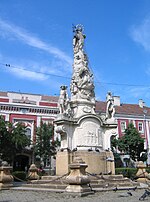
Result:
<svg viewBox="0 0 150 202"><path fill-rule="evenodd" d="M116 135L117 128L113 98L109 92L106 117L96 114L95 86L88 56L84 51L86 37L83 26L74 26L73 33L71 97L68 96L67 87L61 86L60 114L55 120L55 132L61 136L61 149L56 158L56 174L66 174L75 156L86 162L88 172L114 173L113 154L110 151L110 137Z"/></svg>

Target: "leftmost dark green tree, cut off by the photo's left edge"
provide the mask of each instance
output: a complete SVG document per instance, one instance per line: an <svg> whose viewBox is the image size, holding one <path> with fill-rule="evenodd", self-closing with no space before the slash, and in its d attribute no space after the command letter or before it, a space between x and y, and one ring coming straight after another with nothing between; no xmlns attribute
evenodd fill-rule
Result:
<svg viewBox="0 0 150 202"><path fill-rule="evenodd" d="M22 123L13 126L0 116L0 153L3 160L12 163L16 154L31 144L25 133L26 128Z"/></svg>

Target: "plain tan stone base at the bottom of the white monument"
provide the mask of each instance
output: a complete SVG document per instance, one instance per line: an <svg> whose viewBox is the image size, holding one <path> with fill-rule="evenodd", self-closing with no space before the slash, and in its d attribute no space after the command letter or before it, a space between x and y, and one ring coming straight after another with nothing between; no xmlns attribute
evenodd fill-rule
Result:
<svg viewBox="0 0 150 202"><path fill-rule="evenodd" d="M58 152L56 156L56 175L69 172L69 164L75 157L80 157L88 165L86 171L91 174L115 174L114 156L110 151L75 151Z"/></svg>

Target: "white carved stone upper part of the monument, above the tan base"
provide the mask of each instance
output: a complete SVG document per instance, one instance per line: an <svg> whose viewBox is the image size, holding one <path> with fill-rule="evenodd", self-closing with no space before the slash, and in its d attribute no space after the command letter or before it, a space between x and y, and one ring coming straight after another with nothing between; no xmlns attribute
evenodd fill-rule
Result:
<svg viewBox="0 0 150 202"><path fill-rule="evenodd" d="M84 52L83 27L74 27L73 51L74 63L70 85L71 99L68 110L66 87L61 88L60 100L63 102L63 110L57 117L56 132L61 134L61 147L73 150L87 150L110 148L110 138L116 135L117 123L114 119L114 100L111 93L107 95L106 117L103 119L95 113L95 92L93 75L88 67L88 57ZM63 90L63 91L62 91ZM65 98L62 100L62 95ZM64 110L65 108L65 110ZM63 131L62 128L65 128ZM59 129L59 130L58 130Z"/></svg>

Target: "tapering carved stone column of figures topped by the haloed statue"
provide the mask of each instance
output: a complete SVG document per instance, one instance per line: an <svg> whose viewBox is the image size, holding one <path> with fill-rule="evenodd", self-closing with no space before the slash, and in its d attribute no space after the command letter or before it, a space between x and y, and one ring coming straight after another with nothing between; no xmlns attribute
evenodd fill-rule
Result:
<svg viewBox="0 0 150 202"><path fill-rule="evenodd" d="M73 50L74 64L73 75L70 85L72 96L77 96L78 99L95 100L93 75L88 67L88 57L84 52L83 26L74 26L73 32Z"/></svg>

